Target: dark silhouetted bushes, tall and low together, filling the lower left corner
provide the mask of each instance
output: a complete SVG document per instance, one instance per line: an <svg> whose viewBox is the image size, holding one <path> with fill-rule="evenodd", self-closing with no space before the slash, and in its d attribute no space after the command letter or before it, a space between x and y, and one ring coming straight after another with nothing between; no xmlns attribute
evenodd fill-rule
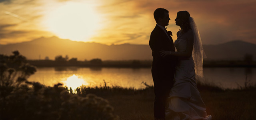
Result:
<svg viewBox="0 0 256 120"><path fill-rule="evenodd" d="M1 120L118 120L108 101L93 94L78 96L55 84L46 87L27 78L36 68L26 63L18 51L1 57Z"/></svg>

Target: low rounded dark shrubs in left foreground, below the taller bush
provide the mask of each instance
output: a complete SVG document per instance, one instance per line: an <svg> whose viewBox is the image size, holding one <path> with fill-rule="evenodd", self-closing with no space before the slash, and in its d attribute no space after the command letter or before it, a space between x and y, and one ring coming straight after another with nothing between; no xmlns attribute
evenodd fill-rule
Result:
<svg viewBox="0 0 256 120"><path fill-rule="evenodd" d="M26 82L13 88L8 96L1 95L1 120L119 119L112 113L113 107L107 100L94 94L85 97L78 94L68 92L60 83L45 87L38 82Z"/></svg>

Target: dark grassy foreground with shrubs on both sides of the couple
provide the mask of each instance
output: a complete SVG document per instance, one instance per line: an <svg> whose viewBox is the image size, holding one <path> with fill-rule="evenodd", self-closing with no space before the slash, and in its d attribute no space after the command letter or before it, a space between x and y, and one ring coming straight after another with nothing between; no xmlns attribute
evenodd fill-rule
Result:
<svg viewBox="0 0 256 120"><path fill-rule="evenodd" d="M8 116L21 113L26 114L27 117L24 118L27 120L34 120L34 117L42 115L44 118L52 117L49 120L68 120L68 118L56 119L64 116L83 120L81 115L88 116L93 110L96 110L98 115L103 114L101 117L104 117L106 114L103 111L106 111L106 108L95 108L102 103L97 100L104 101L104 99L108 100L109 105L114 108L114 111L111 110L111 107L110 112L107 112L110 113L110 117L113 113L118 115L120 120L154 120L154 87L147 84L145 84L146 88L139 90L106 85L95 88L81 86L81 88L73 90L73 92L77 92L76 94L71 94L71 90L67 92L67 88L61 87L61 84L54 87L46 87L39 83L30 84L33 84L32 88L26 86L20 88L1 87L1 120L7 120L2 119L3 117L9 118ZM212 120L256 120L255 86L222 90L217 86L198 83L198 90L206 104L206 112L213 117ZM89 94L95 94L104 99L93 98L90 100L90 97L88 99ZM64 110L67 113L59 110ZM21 119L17 118L17 120Z"/></svg>

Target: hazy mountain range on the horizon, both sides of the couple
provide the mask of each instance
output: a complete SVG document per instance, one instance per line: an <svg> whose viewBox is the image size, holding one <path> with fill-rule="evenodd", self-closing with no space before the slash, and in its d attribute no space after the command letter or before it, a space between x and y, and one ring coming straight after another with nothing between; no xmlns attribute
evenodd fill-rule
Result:
<svg viewBox="0 0 256 120"><path fill-rule="evenodd" d="M57 55L68 55L78 60L152 60L148 45L121 44L104 45L99 43L76 42L68 39L38 38L29 42L0 45L1 54L11 54L18 50L30 60L44 59L48 56L54 60ZM245 54L252 54L256 60L256 44L232 41L219 45L204 45L208 60L242 60Z"/></svg>

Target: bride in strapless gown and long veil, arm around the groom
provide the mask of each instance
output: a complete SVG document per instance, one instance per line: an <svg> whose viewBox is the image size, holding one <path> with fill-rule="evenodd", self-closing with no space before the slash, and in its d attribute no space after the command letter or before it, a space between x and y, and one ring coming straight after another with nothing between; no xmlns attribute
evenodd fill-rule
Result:
<svg viewBox="0 0 256 120"><path fill-rule="evenodd" d="M175 19L180 26L174 42L178 52L161 51L161 56L178 56L174 74L174 86L170 91L165 120L211 120L196 87L196 76L203 77L203 58L200 34L194 19L187 11L179 11Z"/></svg>

